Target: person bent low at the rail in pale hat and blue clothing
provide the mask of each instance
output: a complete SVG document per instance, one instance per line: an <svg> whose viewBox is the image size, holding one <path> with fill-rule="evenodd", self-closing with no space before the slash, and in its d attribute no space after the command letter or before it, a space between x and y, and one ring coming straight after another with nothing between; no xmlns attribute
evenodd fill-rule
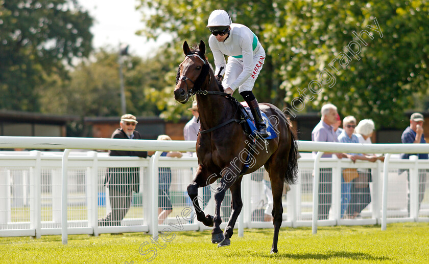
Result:
<svg viewBox="0 0 429 264"><path fill-rule="evenodd" d="M157 140L171 140L167 135L158 136ZM162 157L176 157L181 158L182 153L178 151L162 152ZM171 168L161 167L158 168L158 225L164 223L165 218L173 211L173 205L170 198L171 186Z"/></svg>

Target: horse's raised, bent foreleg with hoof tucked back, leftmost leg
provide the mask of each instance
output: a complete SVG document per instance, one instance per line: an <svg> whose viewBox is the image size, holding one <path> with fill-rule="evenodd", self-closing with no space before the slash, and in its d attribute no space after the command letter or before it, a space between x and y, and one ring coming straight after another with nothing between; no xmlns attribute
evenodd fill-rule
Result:
<svg viewBox="0 0 429 264"><path fill-rule="evenodd" d="M198 221L202 222L205 226L212 227L213 226L213 216L204 215L203 208L205 205L203 205L203 207L200 207L200 204L198 201L199 200L198 188L204 187L207 185L207 179L208 178L206 177L206 174L207 173L205 172L205 170L201 166L199 166L197 169L197 172L195 174L194 180L192 180L192 182L190 182L189 185L187 186L187 192L188 192L190 200L192 201L192 204L194 205L195 213L197 214ZM210 179L209 183L211 184L212 183L211 181L214 182L215 180L216 179Z"/></svg>

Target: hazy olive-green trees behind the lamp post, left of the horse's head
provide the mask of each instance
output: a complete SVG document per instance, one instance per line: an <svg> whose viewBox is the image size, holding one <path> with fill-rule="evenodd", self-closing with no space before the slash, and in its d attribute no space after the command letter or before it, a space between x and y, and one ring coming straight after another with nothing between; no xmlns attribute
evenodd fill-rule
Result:
<svg viewBox="0 0 429 264"><path fill-rule="evenodd" d="M189 112L187 105L171 100L176 79L176 72L171 69L177 66L168 61L169 57L168 51L146 60L133 55L121 57L127 113L177 120L182 113ZM119 65L117 52L101 49L90 59L77 63L69 73L70 79L47 76L46 86L37 90L41 111L81 118L120 116Z"/></svg>

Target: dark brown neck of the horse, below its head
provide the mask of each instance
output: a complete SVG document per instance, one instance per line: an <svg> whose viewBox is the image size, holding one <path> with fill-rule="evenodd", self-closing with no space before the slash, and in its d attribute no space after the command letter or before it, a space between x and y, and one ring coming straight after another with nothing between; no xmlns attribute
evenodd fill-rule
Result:
<svg viewBox="0 0 429 264"><path fill-rule="evenodd" d="M214 74L213 74L214 76ZM216 80L212 77L210 83L202 90L219 91ZM201 130L209 129L231 119L234 109L229 99L221 95L197 95L200 113Z"/></svg>

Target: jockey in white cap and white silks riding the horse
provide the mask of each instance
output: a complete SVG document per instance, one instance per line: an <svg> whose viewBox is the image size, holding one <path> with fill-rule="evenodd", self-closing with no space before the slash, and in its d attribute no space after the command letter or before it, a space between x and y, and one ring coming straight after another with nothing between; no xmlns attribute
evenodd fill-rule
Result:
<svg viewBox="0 0 429 264"><path fill-rule="evenodd" d="M214 71L222 85L227 87L224 92L232 95L238 88L239 93L250 107L260 136L268 137L267 128L260 114L258 101L252 93L253 85L265 60L265 50L256 35L246 26L232 23L231 17L224 10L211 12L207 28L211 35L208 45L214 57ZM228 57L228 63L225 61ZM222 72L220 72L223 67Z"/></svg>

